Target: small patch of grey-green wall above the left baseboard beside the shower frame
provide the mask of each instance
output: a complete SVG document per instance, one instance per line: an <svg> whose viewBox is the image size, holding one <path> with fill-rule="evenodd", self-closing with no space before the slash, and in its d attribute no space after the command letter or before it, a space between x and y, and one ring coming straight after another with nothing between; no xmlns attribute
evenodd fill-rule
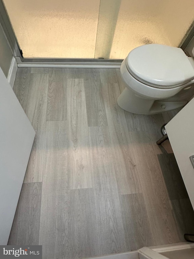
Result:
<svg viewBox="0 0 194 259"><path fill-rule="evenodd" d="M0 67L3 70L5 76L8 76L9 68L12 62L12 51L5 38L3 29L0 25Z"/></svg>

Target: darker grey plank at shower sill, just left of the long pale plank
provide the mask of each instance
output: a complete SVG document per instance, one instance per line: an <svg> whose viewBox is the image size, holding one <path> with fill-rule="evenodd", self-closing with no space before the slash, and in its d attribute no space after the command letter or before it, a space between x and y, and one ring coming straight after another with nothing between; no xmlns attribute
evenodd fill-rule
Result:
<svg viewBox="0 0 194 259"><path fill-rule="evenodd" d="M47 121L67 120L67 94L66 80L63 70L51 68L49 70L48 98L47 98Z"/></svg>

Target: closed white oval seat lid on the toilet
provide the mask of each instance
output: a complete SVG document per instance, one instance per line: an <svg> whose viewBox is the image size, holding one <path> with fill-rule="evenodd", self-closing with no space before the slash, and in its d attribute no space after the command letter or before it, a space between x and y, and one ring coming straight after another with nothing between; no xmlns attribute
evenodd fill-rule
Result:
<svg viewBox="0 0 194 259"><path fill-rule="evenodd" d="M180 48L148 44L133 49L127 68L140 79L162 86L174 86L194 79L194 68Z"/></svg>

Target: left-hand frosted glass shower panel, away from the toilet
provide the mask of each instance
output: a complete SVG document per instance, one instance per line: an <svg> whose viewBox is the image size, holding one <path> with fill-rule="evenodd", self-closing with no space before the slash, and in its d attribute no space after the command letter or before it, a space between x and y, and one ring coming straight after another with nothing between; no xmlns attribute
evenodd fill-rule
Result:
<svg viewBox="0 0 194 259"><path fill-rule="evenodd" d="M100 0L4 0L24 57L94 58Z"/></svg>

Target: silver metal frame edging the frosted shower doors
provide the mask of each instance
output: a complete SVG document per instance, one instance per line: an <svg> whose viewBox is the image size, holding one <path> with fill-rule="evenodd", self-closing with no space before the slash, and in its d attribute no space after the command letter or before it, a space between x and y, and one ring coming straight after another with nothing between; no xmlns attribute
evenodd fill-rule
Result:
<svg viewBox="0 0 194 259"><path fill-rule="evenodd" d="M110 67L119 67L122 63L122 59L95 59L95 58L24 58L22 54L22 50L19 47L17 38L15 36L14 30L12 28L10 19L8 17L7 11L5 9L4 3L2 0L0 0L0 26L2 26L2 29L5 33L5 36L7 38L7 41L9 43L9 46L12 50L13 55L15 56L17 62L19 65L22 66L22 64L25 66L30 66L31 64L39 64L39 65L46 65L48 64L63 64L64 66L110 66ZM190 40L194 36L194 24L190 26L186 33L186 37L184 39L184 42L179 46L181 49L185 49L186 46L189 44ZM40 64L41 63L41 64Z"/></svg>

